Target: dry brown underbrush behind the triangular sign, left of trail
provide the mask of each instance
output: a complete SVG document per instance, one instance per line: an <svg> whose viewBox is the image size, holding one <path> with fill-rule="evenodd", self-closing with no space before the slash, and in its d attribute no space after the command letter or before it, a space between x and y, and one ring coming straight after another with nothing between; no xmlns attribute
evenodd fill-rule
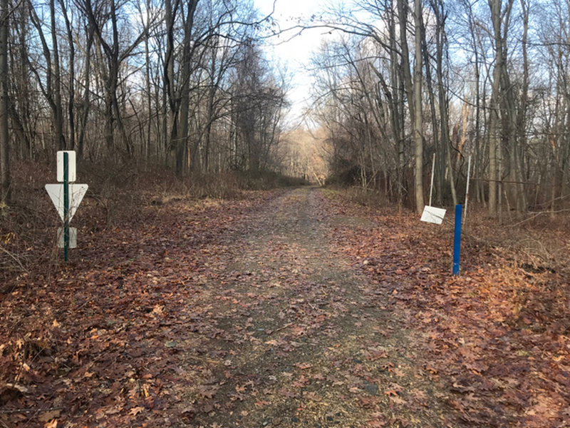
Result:
<svg viewBox="0 0 570 428"><path fill-rule="evenodd" d="M61 227L44 185L56 182L55 165L14 163L12 200L0 208L0 293L9 292L31 270L49 275L58 265L56 231ZM77 183L89 185L71 227L81 236L125 224L145 224L157 215L153 206L185 200L239 199L248 191L303 185L276 173L230 172L178 177L161 168L142 170L114 164L78 165ZM194 201L194 202L192 202ZM79 244L81 245L81 243Z"/></svg>

